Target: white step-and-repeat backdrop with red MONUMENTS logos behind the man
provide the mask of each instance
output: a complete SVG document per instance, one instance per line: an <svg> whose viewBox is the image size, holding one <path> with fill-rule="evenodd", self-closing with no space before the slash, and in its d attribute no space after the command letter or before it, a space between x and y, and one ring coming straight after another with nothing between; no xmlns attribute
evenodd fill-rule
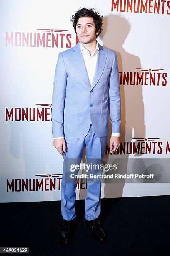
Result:
<svg viewBox="0 0 170 256"><path fill-rule="evenodd" d="M121 143L109 153L110 125L104 161L122 177L103 178L101 197L170 195L170 1L1 0L0 202L61 200L53 81L59 52L78 42L71 16L83 7L103 15L97 41L119 66ZM86 196L83 179L76 196Z"/></svg>

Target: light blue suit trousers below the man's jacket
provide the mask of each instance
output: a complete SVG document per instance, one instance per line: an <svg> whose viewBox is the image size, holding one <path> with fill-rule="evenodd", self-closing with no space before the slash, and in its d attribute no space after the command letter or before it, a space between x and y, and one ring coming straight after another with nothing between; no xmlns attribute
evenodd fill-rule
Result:
<svg viewBox="0 0 170 256"><path fill-rule="evenodd" d="M66 178L66 162L68 159L75 159L76 164L80 164L84 147L86 147L86 160L89 161L90 158L97 159L97 164L101 162L101 159L104 156L105 148L107 144L107 136L97 137L90 125L90 129L87 135L84 138L67 138L65 137L67 152L62 156L63 157L63 173L62 173L62 182L61 182L61 214L64 220L74 220L76 218L75 214L75 182L69 183ZM87 162L89 164L90 162ZM78 170L77 170L78 172ZM77 172L73 172L77 174ZM96 172L96 173L94 173ZM93 174L101 174L100 171L89 171ZM85 219L94 220L100 215L101 211L101 179L88 182L87 180L87 196L85 198Z"/></svg>

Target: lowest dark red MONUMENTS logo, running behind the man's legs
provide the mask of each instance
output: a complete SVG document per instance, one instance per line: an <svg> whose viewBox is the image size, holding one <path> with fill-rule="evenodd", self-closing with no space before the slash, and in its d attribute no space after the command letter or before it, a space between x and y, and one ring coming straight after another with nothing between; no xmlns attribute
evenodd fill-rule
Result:
<svg viewBox="0 0 170 256"><path fill-rule="evenodd" d="M33 179L7 179L7 192L34 192L61 189L62 174L35 174L35 176L36 178ZM80 182L80 179L78 178L76 189L87 189L87 183Z"/></svg>

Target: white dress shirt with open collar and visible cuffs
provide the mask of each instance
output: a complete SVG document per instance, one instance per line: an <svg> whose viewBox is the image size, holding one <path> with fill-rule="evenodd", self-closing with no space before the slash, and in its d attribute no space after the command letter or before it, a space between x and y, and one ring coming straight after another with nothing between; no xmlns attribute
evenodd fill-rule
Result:
<svg viewBox="0 0 170 256"><path fill-rule="evenodd" d="M95 75L95 68L96 68L96 62L97 62L97 53L99 50L98 42L96 40L96 49L93 52L93 54L90 56L89 51L83 46L80 42L80 49L82 52L83 59L85 61L85 67L87 70L87 74L89 77L90 84L92 85L93 77ZM112 133L112 136L120 137L120 133ZM58 138L64 138L64 137L57 137Z"/></svg>

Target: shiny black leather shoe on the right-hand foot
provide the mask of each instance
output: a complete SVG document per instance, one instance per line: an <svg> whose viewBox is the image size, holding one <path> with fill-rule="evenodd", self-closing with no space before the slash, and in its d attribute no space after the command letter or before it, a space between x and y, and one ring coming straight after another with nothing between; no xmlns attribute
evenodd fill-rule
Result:
<svg viewBox="0 0 170 256"><path fill-rule="evenodd" d="M86 226L92 230L92 236L98 241L105 240L105 233L100 227L100 221L96 218L95 220L86 220Z"/></svg>

